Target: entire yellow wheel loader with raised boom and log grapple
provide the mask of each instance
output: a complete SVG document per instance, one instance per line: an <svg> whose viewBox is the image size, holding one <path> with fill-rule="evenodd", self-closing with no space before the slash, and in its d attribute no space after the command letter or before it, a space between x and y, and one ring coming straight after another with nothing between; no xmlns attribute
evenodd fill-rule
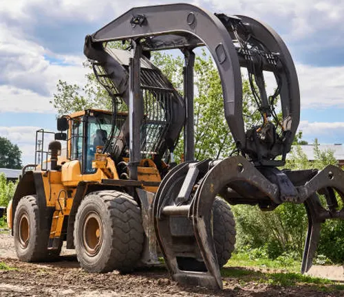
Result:
<svg viewBox="0 0 344 297"><path fill-rule="evenodd" d="M129 47L116 50L114 41ZM235 140L235 151L222 159L195 159L197 47L206 47L217 66ZM150 61L151 52L171 49L184 55L182 95ZM24 168L8 212L19 259L50 260L67 241L88 272L129 272L162 256L178 283L220 289L220 267L235 244L229 205L272 211L303 203L309 227L301 272L310 269L321 223L344 218L337 201L343 201L344 173L336 166L279 169L299 125L300 94L277 32L243 15L155 5L132 8L87 35L84 54L113 108L59 118L60 132L47 151L50 167ZM261 114L261 122L248 127L241 70ZM273 94L266 90L268 72L277 85ZM181 134L184 160L175 164ZM58 140L67 140L65 158L58 157Z"/></svg>

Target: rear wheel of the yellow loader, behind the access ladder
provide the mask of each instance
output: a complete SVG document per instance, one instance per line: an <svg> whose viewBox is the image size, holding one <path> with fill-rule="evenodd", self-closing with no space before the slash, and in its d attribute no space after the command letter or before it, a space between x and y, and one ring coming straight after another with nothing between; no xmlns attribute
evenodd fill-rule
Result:
<svg viewBox="0 0 344 297"><path fill-rule="evenodd" d="M46 220L46 221L45 221ZM54 261L59 250L47 250L50 224L47 217L41 217L36 195L20 199L14 215L14 246L20 261Z"/></svg>

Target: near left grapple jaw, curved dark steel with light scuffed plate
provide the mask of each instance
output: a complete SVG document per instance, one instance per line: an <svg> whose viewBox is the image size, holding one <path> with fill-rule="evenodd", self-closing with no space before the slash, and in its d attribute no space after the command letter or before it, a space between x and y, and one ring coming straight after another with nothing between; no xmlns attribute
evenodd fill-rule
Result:
<svg viewBox="0 0 344 297"><path fill-rule="evenodd" d="M155 195L153 217L160 249L175 281L222 288L213 240L212 206L224 188L236 188L235 184L243 181L247 187L255 187L268 199L277 201L278 187L241 156L183 163L166 175ZM182 199L184 193L189 195Z"/></svg>

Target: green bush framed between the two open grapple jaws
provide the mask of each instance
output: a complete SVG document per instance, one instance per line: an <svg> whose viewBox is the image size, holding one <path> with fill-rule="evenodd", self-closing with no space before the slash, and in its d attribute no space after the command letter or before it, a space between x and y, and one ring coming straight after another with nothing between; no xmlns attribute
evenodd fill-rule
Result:
<svg viewBox="0 0 344 297"><path fill-rule="evenodd" d="M286 203L275 211L262 212L257 206L233 206L237 223L237 248L262 248L270 259L283 253L297 253L301 259L307 216L303 206Z"/></svg>

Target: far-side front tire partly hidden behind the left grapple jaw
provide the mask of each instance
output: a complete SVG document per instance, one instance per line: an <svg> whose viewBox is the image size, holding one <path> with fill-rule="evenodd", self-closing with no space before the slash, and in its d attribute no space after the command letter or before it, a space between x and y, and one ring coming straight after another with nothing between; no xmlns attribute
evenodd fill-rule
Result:
<svg viewBox="0 0 344 297"><path fill-rule="evenodd" d="M232 256L237 232L230 206L219 197L216 197L213 203L213 232L217 262L222 268Z"/></svg>

